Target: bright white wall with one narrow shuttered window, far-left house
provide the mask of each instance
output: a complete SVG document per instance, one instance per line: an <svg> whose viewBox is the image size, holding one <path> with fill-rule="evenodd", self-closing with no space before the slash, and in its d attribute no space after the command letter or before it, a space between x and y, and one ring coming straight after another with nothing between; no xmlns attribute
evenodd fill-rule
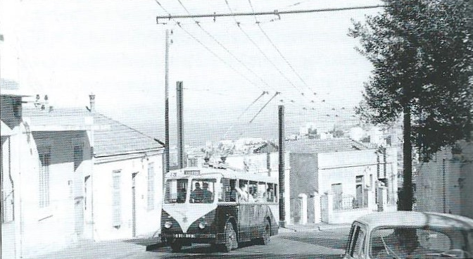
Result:
<svg viewBox="0 0 473 259"><path fill-rule="evenodd" d="M46 132L42 139L27 141L27 130L22 127L21 134L13 141L18 144L15 152L21 156L15 163L20 163L15 177L16 220L20 224L21 253L28 257L61 250L77 241L75 232L75 196L74 187L82 186L82 169L89 166L90 160L84 160L75 178L73 146L87 142L87 135L74 132ZM39 146L51 146L51 165L49 166L49 199L46 208L39 208ZM89 149L84 148L83 156L89 156ZM12 151L13 153L13 151ZM13 169L13 168L12 168ZM83 222L81 222L83 224ZM41 236L41 238L38 238Z"/></svg>

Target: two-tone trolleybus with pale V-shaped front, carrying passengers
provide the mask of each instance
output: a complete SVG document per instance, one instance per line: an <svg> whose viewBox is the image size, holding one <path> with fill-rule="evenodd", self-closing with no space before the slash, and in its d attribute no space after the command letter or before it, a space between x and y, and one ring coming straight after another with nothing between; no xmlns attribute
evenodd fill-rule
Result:
<svg viewBox="0 0 473 259"><path fill-rule="evenodd" d="M268 244L279 220L276 177L222 168L184 168L165 177L161 239L231 251L244 241Z"/></svg>

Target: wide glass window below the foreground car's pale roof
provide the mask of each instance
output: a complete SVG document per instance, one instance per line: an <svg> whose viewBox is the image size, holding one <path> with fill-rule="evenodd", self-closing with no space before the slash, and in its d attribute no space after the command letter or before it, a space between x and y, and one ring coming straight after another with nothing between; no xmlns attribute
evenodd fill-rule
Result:
<svg viewBox="0 0 473 259"><path fill-rule="evenodd" d="M372 258L472 258L473 229L381 227L371 235Z"/></svg>

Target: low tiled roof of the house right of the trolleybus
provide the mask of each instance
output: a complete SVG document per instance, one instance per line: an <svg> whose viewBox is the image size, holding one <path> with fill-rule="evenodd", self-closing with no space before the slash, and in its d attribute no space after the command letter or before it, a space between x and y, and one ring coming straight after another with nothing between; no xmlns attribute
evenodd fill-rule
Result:
<svg viewBox="0 0 473 259"><path fill-rule="evenodd" d="M286 141L291 153L331 153L370 149L365 144L347 137L334 139L298 139Z"/></svg>

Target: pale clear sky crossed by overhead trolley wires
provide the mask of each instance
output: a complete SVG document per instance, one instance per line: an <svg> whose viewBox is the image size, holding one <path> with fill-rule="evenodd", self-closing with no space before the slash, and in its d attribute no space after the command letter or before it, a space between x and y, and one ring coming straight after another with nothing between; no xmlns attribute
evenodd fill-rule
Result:
<svg viewBox="0 0 473 259"><path fill-rule="evenodd" d="M215 22L158 20L160 24L156 16L377 4L381 2L5 0L0 3L0 76L34 95L47 94L55 107L89 106L94 93L99 112L164 139L169 30L171 144L177 81L184 82L187 144L224 137L277 138L279 105L286 111L286 134L305 122L329 128L356 121L353 107L362 99L372 67L355 51L358 42L347 36L348 28L352 18L363 20L381 8L219 17ZM263 91L268 94L251 105ZM281 94L271 99L277 91Z"/></svg>

